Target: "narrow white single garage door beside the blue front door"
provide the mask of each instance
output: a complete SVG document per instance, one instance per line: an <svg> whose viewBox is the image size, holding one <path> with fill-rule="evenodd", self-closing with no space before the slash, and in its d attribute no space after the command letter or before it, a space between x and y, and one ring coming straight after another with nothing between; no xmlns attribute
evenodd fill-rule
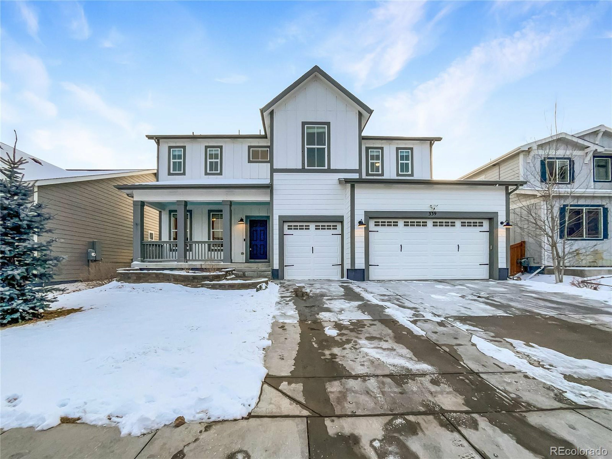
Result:
<svg viewBox="0 0 612 459"><path fill-rule="evenodd" d="M285 223L285 279L340 279L341 223Z"/></svg>

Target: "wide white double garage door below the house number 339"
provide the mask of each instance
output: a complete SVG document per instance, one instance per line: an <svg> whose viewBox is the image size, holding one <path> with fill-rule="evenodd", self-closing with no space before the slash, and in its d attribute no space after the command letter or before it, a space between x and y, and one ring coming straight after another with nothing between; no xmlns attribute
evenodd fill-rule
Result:
<svg viewBox="0 0 612 459"><path fill-rule="evenodd" d="M489 222L370 220L370 279L488 279Z"/></svg>

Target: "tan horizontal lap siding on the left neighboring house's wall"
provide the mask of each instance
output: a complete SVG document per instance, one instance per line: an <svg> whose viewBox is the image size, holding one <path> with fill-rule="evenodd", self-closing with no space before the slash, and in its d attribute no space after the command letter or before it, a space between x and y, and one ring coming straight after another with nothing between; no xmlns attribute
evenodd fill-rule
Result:
<svg viewBox="0 0 612 459"><path fill-rule="evenodd" d="M102 244L103 263L132 263L132 199L114 185L153 182L155 174L115 177L38 187L38 201L53 215L48 227L58 241L56 255L66 257L54 280L80 280L88 276L87 250L91 241ZM145 207L144 231L159 237L159 213ZM97 262L99 263L99 262Z"/></svg>

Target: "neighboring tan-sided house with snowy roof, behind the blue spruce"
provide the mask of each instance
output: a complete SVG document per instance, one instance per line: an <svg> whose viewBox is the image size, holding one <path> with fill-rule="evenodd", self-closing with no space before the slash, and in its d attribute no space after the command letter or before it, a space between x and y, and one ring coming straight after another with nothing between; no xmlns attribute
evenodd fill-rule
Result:
<svg viewBox="0 0 612 459"><path fill-rule="evenodd" d="M2 154L13 147L0 143ZM24 177L35 182L34 198L53 215L48 227L64 257L53 280L84 280L132 263L132 200L115 185L154 182L155 170L65 170L23 151ZM144 234L159 239L159 212L144 209ZM97 245L93 242L97 241ZM88 250L95 248L95 256ZM91 259L95 258L95 259Z"/></svg>

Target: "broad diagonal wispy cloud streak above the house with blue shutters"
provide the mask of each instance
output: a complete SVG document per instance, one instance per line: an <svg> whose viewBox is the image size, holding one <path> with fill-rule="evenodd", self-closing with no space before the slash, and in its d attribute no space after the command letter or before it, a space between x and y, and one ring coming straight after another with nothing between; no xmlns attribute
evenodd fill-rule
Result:
<svg viewBox="0 0 612 459"><path fill-rule="evenodd" d="M538 17L512 35L480 43L412 91L384 102L390 129L461 132L494 91L556 63L588 27L588 17Z"/></svg>

